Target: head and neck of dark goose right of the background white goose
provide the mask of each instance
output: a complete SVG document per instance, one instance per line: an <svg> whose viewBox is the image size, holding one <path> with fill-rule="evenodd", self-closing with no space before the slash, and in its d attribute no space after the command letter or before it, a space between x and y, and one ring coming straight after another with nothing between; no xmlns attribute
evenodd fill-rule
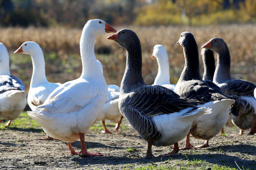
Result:
<svg viewBox="0 0 256 170"><path fill-rule="evenodd" d="M199 53L194 36L190 32L182 32L177 44L183 47L185 58L185 65L179 82L184 80L200 80Z"/></svg>

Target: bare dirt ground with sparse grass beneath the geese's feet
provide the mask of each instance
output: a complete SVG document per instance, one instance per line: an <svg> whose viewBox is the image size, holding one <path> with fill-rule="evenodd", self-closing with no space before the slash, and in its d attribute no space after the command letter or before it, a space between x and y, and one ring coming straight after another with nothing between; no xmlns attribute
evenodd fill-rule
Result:
<svg viewBox="0 0 256 170"><path fill-rule="evenodd" d="M101 126L100 122L96 124ZM109 126L113 131L114 127ZM66 143L61 141L40 141L36 138L46 134L38 129L7 128L0 130L0 169L134 169L146 168L203 168L213 167L256 169L255 135L232 136L238 133L236 127L226 128L229 135L217 135L210 140L210 147L179 151L169 157L160 157L172 150L168 147L152 147L154 159L144 159L147 143L139 137L126 121L118 133L104 134L92 129L86 134L86 146L90 152L101 152L104 156L85 157L71 155ZM248 133L248 131L246 131ZM204 141L191 138L194 146ZM179 142L184 146L185 139ZM80 150L80 141L72 143ZM131 148L133 149L127 149ZM237 164L237 165L236 165ZM218 168L217 168L218 169Z"/></svg>

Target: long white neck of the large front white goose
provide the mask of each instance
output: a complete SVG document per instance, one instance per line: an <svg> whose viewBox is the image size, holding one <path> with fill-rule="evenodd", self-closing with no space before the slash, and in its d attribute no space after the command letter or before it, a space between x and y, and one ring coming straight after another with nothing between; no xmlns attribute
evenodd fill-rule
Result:
<svg viewBox="0 0 256 170"><path fill-rule="evenodd" d="M80 54L82 60L81 78L98 78L103 76L101 69L98 66L97 59L94 54L95 36L90 33L89 28L85 25L82 30L80 39ZM105 79L104 79L105 80Z"/></svg>

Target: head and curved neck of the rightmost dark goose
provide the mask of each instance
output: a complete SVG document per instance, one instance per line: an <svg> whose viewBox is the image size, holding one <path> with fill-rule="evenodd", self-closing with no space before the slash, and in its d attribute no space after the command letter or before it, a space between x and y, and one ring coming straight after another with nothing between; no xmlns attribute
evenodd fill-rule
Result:
<svg viewBox="0 0 256 170"><path fill-rule="evenodd" d="M211 49L218 54L213 82L224 83L225 81L230 80L230 53L226 42L220 38L212 38L208 42L205 42L202 48Z"/></svg>

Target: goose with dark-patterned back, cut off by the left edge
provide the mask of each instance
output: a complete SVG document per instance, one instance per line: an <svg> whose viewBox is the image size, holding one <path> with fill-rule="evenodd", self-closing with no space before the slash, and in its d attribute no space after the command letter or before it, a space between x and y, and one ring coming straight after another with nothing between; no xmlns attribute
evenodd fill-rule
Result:
<svg viewBox="0 0 256 170"><path fill-rule="evenodd" d="M0 122L1 119L9 120L6 128L26 107L26 97L22 80L10 73L9 54L0 42Z"/></svg>

